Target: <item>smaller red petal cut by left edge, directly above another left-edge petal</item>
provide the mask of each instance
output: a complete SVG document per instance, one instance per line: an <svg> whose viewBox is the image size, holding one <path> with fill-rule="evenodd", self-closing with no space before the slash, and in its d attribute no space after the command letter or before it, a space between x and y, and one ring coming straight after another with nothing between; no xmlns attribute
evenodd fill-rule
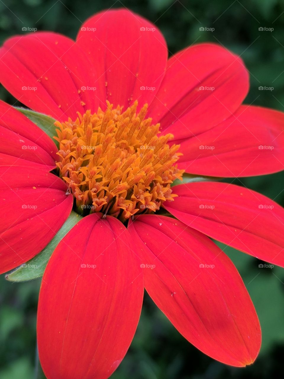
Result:
<svg viewBox="0 0 284 379"><path fill-rule="evenodd" d="M47 134L21 112L2 101L0 101L0 114L2 164L18 166L22 160L25 160L23 163L25 166L40 165L47 171L53 169L58 149Z"/></svg>

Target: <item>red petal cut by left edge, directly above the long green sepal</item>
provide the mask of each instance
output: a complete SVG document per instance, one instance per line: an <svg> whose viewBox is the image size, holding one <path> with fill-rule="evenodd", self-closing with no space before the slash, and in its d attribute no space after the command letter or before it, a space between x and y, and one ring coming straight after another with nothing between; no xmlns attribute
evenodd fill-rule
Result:
<svg viewBox="0 0 284 379"><path fill-rule="evenodd" d="M0 167L0 273L33 258L55 236L73 205L66 189L41 169Z"/></svg>

